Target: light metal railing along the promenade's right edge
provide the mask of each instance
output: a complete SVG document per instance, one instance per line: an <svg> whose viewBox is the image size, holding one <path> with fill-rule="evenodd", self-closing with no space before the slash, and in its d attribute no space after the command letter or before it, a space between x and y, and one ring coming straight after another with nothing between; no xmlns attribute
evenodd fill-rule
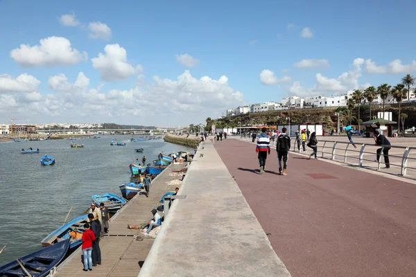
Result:
<svg viewBox="0 0 416 277"><path fill-rule="evenodd" d="M244 141L252 141L251 136L239 136L239 139ZM306 151L302 151L302 141L300 143L300 150L297 149L297 140L291 137L293 141L293 152L299 152L300 154L311 154L311 148L305 147ZM254 143L257 138L254 140ZM270 139L270 146L275 148L277 138L275 141ZM356 143L357 148L349 142L343 141L318 141L318 154L317 157L321 159L329 159L332 161L338 161L340 163L347 163L352 166L359 166L361 168L375 168L381 170L381 163L383 163L383 150L390 148L389 151L394 153L388 154L388 158L392 159L389 162L390 167L396 169L396 172L387 172L402 177L416 179L416 147L399 146L399 145L374 145L370 143ZM379 159L368 159L367 155L377 155L379 152ZM415 157L410 157L410 154L415 154ZM412 163L413 162L413 163ZM376 166L370 166L369 163L376 163ZM410 165L411 163L411 165ZM397 170L399 169L399 170ZM410 175L410 170L414 174Z"/></svg>

